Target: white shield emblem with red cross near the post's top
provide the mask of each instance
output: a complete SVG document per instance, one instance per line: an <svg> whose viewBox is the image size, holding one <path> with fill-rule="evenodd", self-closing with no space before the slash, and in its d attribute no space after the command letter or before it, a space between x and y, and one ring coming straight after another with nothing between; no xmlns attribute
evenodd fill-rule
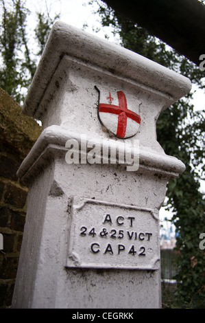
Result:
<svg viewBox="0 0 205 323"><path fill-rule="evenodd" d="M99 92L97 87L95 89ZM119 105L112 104L114 98L109 92L107 97L109 104L98 103L99 121L116 137L121 139L133 137L139 129L141 117L136 112L128 109L127 99L123 91L117 91L117 98ZM136 104L139 105L138 103Z"/></svg>

